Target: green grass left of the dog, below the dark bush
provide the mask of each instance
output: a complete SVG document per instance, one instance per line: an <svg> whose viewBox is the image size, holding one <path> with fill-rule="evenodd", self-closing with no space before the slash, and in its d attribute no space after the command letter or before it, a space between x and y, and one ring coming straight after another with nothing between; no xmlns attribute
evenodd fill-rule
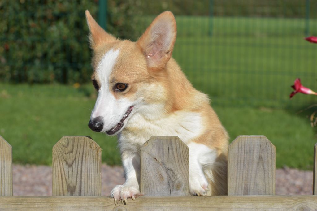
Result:
<svg viewBox="0 0 317 211"><path fill-rule="evenodd" d="M51 164L62 136L85 135L103 149L104 162L120 164L116 138L88 128L94 93L92 86L0 84L0 135L12 145L14 162Z"/></svg>

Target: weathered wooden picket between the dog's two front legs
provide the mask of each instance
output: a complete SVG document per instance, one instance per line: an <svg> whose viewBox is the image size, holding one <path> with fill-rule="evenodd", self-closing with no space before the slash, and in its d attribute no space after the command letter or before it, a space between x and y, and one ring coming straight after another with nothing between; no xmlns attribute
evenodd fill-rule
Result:
<svg viewBox="0 0 317 211"><path fill-rule="evenodd" d="M141 193L189 195L188 152L177 136L151 137L141 148Z"/></svg>

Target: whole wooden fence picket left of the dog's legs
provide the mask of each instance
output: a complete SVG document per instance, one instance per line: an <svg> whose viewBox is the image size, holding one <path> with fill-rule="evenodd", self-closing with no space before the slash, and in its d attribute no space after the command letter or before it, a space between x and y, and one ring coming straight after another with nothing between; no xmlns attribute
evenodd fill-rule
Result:
<svg viewBox="0 0 317 211"><path fill-rule="evenodd" d="M101 148L91 137L63 136L53 147L53 195L101 195Z"/></svg>

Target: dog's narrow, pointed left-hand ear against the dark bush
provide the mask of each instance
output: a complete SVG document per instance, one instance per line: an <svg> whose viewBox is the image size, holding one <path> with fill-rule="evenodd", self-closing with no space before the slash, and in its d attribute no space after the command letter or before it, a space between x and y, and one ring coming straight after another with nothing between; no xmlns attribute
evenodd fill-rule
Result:
<svg viewBox="0 0 317 211"><path fill-rule="evenodd" d="M86 10L86 20L88 28L90 31L89 41L92 49L96 49L102 43L115 42L117 39L108 34L104 29L102 29L94 18L90 15L90 12Z"/></svg>

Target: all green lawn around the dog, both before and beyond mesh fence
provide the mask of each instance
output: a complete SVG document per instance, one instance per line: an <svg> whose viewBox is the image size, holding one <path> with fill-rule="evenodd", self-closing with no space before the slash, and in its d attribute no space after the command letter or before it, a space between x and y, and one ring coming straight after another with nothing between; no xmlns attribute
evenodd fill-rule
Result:
<svg viewBox="0 0 317 211"><path fill-rule="evenodd" d="M305 20L176 20L173 57L194 86L210 96L230 141L238 135L265 135L277 148L277 167L312 169L317 139L308 117L313 109L296 113L315 103L316 96L288 99L297 77L317 90L317 45L303 40ZM309 25L310 35L317 35L317 20ZM103 162L120 165L116 138L87 126L95 98L90 84L0 84L0 135L12 145L14 162L51 164L52 147L62 136L85 135L101 146Z"/></svg>

